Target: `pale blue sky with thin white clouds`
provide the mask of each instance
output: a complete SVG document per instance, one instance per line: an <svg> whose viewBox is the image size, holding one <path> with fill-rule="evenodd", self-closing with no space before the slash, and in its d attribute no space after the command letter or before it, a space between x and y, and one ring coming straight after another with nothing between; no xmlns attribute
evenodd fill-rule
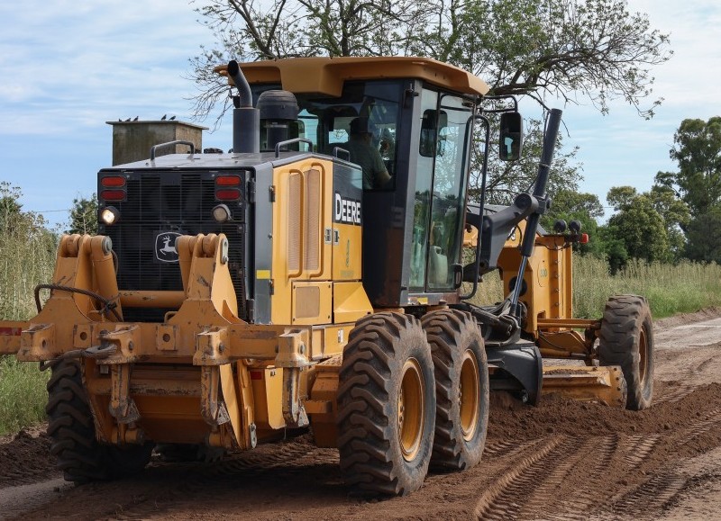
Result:
<svg viewBox="0 0 721 521"><path fill-rule="evenodd" d="M718 0L629 0L654 29L669 33L673 57L653 68L651 121L622 100L601 115L588 101L563 109L564 148L578 146L582 192L604 201L609 188L646 191L669 157L680 121L721 115ZM193 121L196 85L188 58L214 37L185 0L24 0L0 4L0 181L21 188L23 210L63 227L77 197L96 189L111 166L112 127L105 121L163 114ZM649 100L650 103L650 100ZM540 117L525 103L526 117ZM558 106L555 103L554 106ZM230 148L231 121L205 132L204 147Z"/></svg>

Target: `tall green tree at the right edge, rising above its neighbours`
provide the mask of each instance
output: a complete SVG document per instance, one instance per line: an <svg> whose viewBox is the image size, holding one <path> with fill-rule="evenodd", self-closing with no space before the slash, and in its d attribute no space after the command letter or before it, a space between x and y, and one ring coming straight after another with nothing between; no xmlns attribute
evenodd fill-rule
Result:
<svg viewBox="0 0 721 521"><path fill-rule="evenodd" d="M675 193L698 218L721 202L721 117L681 121L673 142L669 155L679 171L659 172L656 184Z"/></svg>

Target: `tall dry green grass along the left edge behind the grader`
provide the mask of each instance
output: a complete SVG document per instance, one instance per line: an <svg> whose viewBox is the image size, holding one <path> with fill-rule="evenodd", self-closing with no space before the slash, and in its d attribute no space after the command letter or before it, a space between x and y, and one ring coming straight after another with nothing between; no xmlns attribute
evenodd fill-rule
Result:
<svg viewBox="0 0 721 521"><path fill-rule="evenodd" d="M33 289L50 282L57 249L57 236L44 224L32 213L0 206L0 319L27 320L37 313ZM48 376L38 364L0 355L0 435L45 418Z"/></svg>

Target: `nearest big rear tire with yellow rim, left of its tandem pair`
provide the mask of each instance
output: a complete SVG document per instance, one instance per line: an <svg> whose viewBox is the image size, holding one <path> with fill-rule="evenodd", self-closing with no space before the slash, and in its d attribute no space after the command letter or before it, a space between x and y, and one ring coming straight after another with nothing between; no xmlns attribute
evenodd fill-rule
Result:
<svg viewBox="0 0 721 521"><path fill-rule="evenodd" d="M338 382L341 471L358 496L405 495L423 485L435 423L431 347L411 315L360 319Z"/></svg>

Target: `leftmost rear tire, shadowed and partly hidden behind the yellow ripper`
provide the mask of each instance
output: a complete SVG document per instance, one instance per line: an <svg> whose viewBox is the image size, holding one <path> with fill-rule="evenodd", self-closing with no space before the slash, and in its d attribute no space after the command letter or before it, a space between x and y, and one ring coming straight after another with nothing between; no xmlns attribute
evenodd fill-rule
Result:
<svg viewBox="0 0 721 521"><path fill-rule="evenodd" d="M118 447L96 440L95 424L83 388L80 364L62 360L51 365L48 382L48 435L50 454L66 481L77 484L107 481L132 475L151 459L152 444Z"/></svg>

